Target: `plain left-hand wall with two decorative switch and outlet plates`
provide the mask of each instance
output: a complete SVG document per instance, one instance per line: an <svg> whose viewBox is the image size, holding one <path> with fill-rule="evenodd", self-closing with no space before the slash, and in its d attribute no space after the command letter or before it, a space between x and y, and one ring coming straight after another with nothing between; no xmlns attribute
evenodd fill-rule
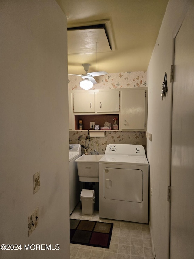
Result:
<svg viewBox="0 0 194 259"><path fill-rule="evenodd" d="M69 259L67 22L54 0L0 3L0 258ZM33 194L33 174L40 190ZM28 215L39 225L28 237ZM24 244L60 250L26 251Z"/></svg>

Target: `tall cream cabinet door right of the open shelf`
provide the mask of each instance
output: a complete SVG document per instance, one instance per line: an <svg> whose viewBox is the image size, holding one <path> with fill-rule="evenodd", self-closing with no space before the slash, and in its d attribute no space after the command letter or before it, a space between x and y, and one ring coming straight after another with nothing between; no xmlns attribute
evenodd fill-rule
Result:
<svg viewBox="0 0 194 259"><path fill-rule="evenodd" d="M121 128L145 128L145 90L122 91Z"/></svg>

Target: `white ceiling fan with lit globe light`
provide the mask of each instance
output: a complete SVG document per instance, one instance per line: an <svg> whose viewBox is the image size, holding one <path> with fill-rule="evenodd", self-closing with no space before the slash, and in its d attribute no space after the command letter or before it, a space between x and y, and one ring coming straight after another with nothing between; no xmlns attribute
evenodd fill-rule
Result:
<svg viewBox="0 0 194 259"><path fill-rule="evenodd" d="M97 83L94 77L108 74L105 71L88 73L90 64L82 64L82 66L84 67L85 74L82 74L82 75L69 74L69 75L82 77L83 81L80 82L80 87L82 87L85 90L89 90L90 88L93 87L93 84Z"/></svg>

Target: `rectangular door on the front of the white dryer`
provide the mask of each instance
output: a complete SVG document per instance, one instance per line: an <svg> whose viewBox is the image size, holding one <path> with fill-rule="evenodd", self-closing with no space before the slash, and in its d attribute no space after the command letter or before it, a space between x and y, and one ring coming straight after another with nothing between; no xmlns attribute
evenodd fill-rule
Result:
<svg viewBox="0 0 194 259"><path fill-rule="evenodd" d="M104 169L105 199L142 202L143 172L139 169Z"/></svg>

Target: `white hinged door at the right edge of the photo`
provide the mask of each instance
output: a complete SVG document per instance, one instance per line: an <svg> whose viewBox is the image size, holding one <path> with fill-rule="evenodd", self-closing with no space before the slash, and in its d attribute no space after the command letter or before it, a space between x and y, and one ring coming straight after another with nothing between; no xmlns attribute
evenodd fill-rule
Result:
<svg viewBox="0 0 194 259"><path fill-rule="evenodd" d="M175 39L170 259L194 258L194 3Z"/></svg>

